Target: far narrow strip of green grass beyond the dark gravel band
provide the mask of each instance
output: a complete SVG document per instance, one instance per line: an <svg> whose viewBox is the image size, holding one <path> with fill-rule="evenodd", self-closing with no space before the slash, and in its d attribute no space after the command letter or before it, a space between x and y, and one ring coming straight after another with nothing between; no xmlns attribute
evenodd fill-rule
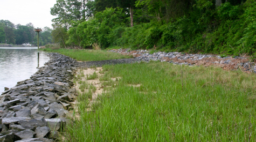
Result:
<svg viewBox="0 0 256 142"><path fill-rule="evenodd" d="M133 58L132 56L124 56L118 53L108 52L106 50L88 50L88 49L40 49L54 53L60 53L70 56L78 61L102 61L107 59ZM100 56L99 56L100 55Z"/></svg>

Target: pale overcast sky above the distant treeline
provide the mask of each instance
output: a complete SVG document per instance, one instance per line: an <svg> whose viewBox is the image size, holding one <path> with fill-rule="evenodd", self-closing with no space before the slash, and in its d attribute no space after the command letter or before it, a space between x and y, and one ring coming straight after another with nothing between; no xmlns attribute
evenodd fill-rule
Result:
<svg viewBox="0 0 256 142"><path fill-rule="evenodd" d="M0 0L0 20L9 20L13 24L26 25L32 23L34 27L52 28L50 11L56 0Z"/></svg>

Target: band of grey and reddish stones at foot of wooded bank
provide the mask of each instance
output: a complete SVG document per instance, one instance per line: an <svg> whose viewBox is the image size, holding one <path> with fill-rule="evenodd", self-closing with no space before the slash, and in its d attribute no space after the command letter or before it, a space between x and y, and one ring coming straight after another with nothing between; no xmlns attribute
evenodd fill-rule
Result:
<svg viewBox="0 0 256 142"><path fill-rule="evenodd" d="M141 61L161 61L173 64L185 65L215 65L223 68L224 70L241 70L246 72L256 73L255 62L250 62L248 57L222 57L219 55L206 55L206 54L186 54L186 53L164 53L156 52L149 54L148 50L130 50L130 49L112 49L109 50L114 53L123 55L133 55L136 59Z"/></svg>

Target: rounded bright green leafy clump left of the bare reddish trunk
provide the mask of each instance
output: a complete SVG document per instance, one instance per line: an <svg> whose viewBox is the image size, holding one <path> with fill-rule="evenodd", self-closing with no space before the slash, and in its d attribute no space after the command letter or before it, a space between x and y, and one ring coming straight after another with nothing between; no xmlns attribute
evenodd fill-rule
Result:
<svg viewBox="0 0 256 142"><path fill-rule="evenodd" d="M92 45L97 43L101 48L107 48L110 42L118 38L114 37L115 35L120 36L120 32L123 31L120 26L123 26L126 21L126 15L121 8L107 8L105 11L96 13L94 18L78 25L76 34L81 38L80 45L92 48ZM115 29L115 27L118 28ZM71 35L74 36L74 34Z"/></svg>

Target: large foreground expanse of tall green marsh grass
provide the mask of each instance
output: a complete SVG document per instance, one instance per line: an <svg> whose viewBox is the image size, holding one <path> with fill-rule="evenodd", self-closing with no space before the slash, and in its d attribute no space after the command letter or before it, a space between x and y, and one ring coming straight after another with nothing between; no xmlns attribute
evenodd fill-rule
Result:
<svg viewBox="0 0 256 142"><path fill-rule="evenodd" d="M105 65L101 73L106 92L90 112L93 89L80 95L67 141L256 140L255 74L166 62Z"/></svg>

